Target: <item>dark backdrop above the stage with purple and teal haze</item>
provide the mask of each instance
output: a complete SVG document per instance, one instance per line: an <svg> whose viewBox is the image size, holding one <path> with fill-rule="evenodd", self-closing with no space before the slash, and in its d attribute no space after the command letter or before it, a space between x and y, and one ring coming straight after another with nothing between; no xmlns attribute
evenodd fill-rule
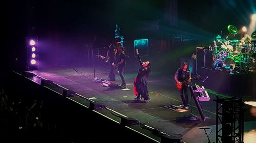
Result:
<svg viewBox="0 0 256 143"><path fill-rule="evenodd" d="M42 65L82 59L88 48L108 47L114 42L116 24L126 46L134 39L168 40L174 34L192 38L197 41L195 46L211 44L217 35L228 34L229 24L238 30L248 26L255 4L254 0L9 1L1 6L1 65L24 68L26 37L32 35L38 36Z"/></svg>

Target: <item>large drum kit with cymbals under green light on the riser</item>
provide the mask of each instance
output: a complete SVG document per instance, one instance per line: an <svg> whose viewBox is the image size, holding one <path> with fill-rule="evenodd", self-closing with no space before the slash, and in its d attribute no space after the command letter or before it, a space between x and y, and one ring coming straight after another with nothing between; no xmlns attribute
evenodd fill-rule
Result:
<svg viewBox="0 0 256 143"><path fill-rule="evenodd" d="M238 30L236 26L228 25L229 34L236 35ZM227 36L228 37L228 36ZM256 31L251 34L251 38L256 38ZM217 36L214 40L212 55L212 66L216 70L227 70L230 73L237 72L255 72L256 71L256 40L243 35L241 40L221 39Z"/></svg>

